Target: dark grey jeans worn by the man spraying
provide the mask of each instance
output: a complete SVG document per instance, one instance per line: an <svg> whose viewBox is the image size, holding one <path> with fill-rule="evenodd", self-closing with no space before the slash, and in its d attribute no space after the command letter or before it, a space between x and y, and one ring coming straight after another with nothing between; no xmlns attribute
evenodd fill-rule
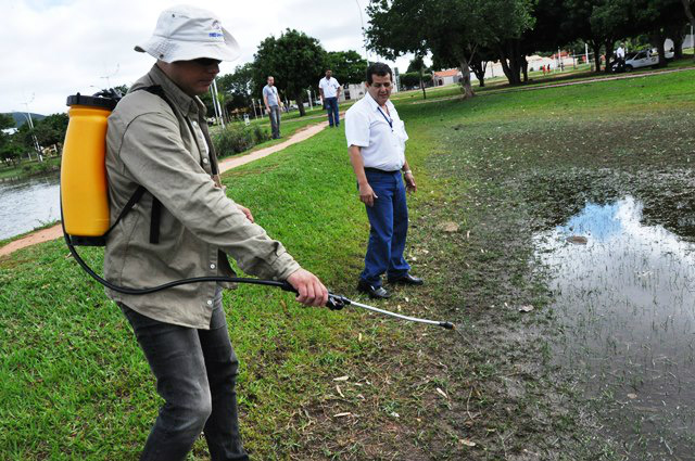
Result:
<svg viewBox="0 0 695 461"><path fill-rule="evenodd" d="M231 348L218 287L210 330L163 323L119 304L164 399L140 459L186 459L201 432L213 461L249 460L241 445Z"/></svg>

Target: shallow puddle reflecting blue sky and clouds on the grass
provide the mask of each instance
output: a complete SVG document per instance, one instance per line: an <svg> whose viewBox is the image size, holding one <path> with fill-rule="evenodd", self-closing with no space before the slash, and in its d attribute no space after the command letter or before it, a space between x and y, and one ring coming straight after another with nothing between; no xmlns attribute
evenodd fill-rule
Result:
<svg viewBox="0 0 695 461"><path fill-rule="evenodd" d="M643 225L630 196L534 239L555 360L599 404L604 431L630 459L695 459L695 245Z"/></svg>

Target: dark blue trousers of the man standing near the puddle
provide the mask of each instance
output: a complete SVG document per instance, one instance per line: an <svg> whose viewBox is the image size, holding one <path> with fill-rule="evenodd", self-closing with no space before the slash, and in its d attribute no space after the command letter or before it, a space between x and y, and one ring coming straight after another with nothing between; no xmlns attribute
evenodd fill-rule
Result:
<svg viewBox="0 0 695 461"><path fill-rule="evenodd" d="M372 286L381 286L383 273L389 279L397 279L410 270L403 257L408 232L408 207L400 171L365 172L378 199L375 199L374 206L366 206L371 229L365 270L359 278Z"/></svg>

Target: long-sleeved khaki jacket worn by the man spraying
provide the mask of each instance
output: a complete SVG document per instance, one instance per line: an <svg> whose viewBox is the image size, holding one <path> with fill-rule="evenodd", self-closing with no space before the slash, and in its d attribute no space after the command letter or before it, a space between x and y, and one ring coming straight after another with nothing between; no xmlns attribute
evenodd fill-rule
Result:
<svg viewBox="0 0 695 461"><path fill-rule="evenodd" d="M159 95L138 91L153 85L163 88L175 112ZM104 274L110 282L149 287L192 277L233 277L226 255L261 278L285 280L300 268L280 242L251 223L225 195L213 177L213 163L217 158L204 104L153 66L109 117L111 222L138 185L149 191L106 239ZM156 244L150 243L153 195L162 203ZM149 295L111 290L106 294L152 319L208 329L215 285L195 283Z"/></svg>

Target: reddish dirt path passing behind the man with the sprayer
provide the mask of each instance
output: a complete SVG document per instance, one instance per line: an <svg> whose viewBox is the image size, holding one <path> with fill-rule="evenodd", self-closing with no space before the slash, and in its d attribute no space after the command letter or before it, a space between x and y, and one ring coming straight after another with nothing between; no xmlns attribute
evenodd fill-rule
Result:
<svg viewBox="0 0 695 461"><path fill-rule="evenodd" d="M314 135L317 135L318 132L324 130L327 126L328 126L328 121L311 125L306 128L302 128L301 130L296 131L287 141L283 141L279 144L261 149L248 155L226 158L219 162L219 170L220 172L225 172L238 166L245 165L250 162L256 161L258 158L267 157L268 155L282 151L283 149L287 149L290 145L293 145L293 144L296 144L298 142L302 142L309 139ZM0 257L10 255L16 252L17 249L26 248L27 246L36 245L43 242L49 242L51 240L56 240L62 236L63 236L63 228L61 225L55 225L52 228L31 232L30 234L23 236L22 239L15 240L0 247Z"/></svg>

